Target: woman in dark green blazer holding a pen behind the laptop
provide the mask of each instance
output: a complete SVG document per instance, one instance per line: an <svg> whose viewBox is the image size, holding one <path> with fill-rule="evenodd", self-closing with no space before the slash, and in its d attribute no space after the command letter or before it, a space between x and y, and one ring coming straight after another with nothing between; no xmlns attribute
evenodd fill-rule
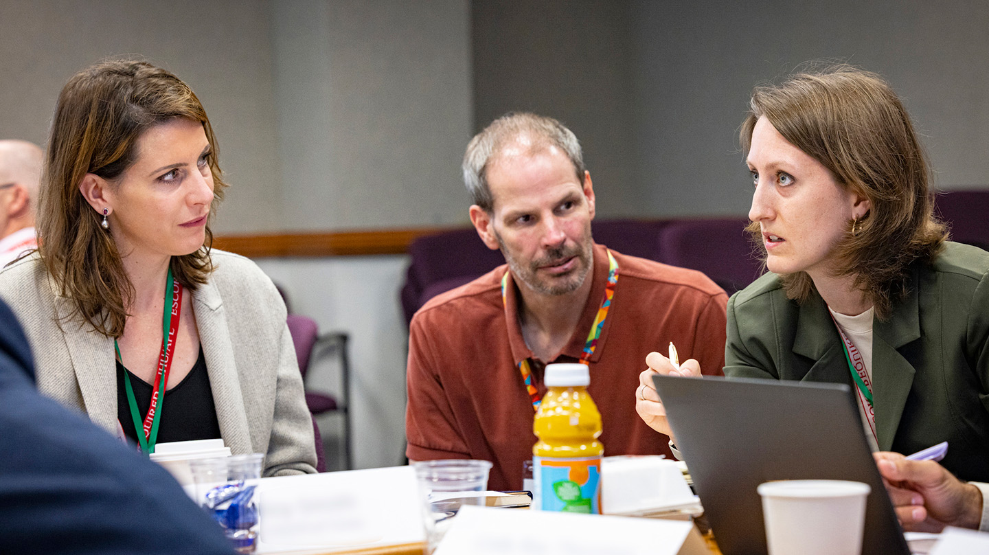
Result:
<svg viewBox="0 0 989 555"><path fill-rule="evenodd" d="M797 74L755 89L741 142L769 273L728 304L725 375L847 383L874 450L946 440L944 468L989 481L989 253L945 241L895 93L849 66ZM669 434L650 375L699 368L647 363L637 410Z"/></svg>

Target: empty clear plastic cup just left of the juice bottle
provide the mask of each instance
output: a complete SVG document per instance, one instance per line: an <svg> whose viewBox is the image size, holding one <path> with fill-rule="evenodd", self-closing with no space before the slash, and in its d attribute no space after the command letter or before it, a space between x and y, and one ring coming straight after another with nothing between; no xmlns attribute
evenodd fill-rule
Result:
<svg viewBox="0 0 989 555"><path fill-rule="evenodd" d="M488 489L492 463L471 459L418 461L412 464L424 501L423 522L426 529L426 553L430 554L443 539L453 517L464 505L484 505L479 492ZM457 494L464 494L463 497Z"/></svg>

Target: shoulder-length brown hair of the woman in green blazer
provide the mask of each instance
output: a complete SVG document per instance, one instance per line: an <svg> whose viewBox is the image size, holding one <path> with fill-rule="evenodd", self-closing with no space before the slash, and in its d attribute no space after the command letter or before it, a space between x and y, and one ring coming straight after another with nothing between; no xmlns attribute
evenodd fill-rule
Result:
<svg viewBox="0 0 989 555"><path fill-rule="evenodd" d="M934 216L924 150L900 99L879 75L835 65L757 86L740 134L746 154L762 117L843 187L869 200L871 209L849 222L833 255L837 275L854 275L854 287L872 301L876 317L888 318L892 301L907 292L910 264L932 260L946 235ZM759 225L750 231L760 235ZM781 277L789 298L808 298L810 276Z"/></svg>

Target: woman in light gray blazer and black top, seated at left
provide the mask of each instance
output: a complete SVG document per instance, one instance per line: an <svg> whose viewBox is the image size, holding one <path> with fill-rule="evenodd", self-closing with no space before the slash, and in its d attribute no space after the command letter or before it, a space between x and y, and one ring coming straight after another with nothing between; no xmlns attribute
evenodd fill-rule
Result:
<svg viewBox="0 0 989 555"><path fill-rule="evenodd" d="M43 393L153 452L222 437L264 475L315 472L286 310L246 258L211 250L217 141L189 87L143 61L89 67L55 107L40 246L0 273Z"/></svg>

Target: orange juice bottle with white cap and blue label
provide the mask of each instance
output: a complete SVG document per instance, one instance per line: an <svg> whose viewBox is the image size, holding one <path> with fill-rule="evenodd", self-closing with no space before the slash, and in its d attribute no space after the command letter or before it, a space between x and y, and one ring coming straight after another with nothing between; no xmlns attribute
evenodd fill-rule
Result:
<svg viewBox="0 0 989 555"><path fill-rule="evenodd" d="M548 391L539 405L532 430L535 491L532 507L599 514L601 415L587 395L590 373L584 364L548 364Z"/></svg>

